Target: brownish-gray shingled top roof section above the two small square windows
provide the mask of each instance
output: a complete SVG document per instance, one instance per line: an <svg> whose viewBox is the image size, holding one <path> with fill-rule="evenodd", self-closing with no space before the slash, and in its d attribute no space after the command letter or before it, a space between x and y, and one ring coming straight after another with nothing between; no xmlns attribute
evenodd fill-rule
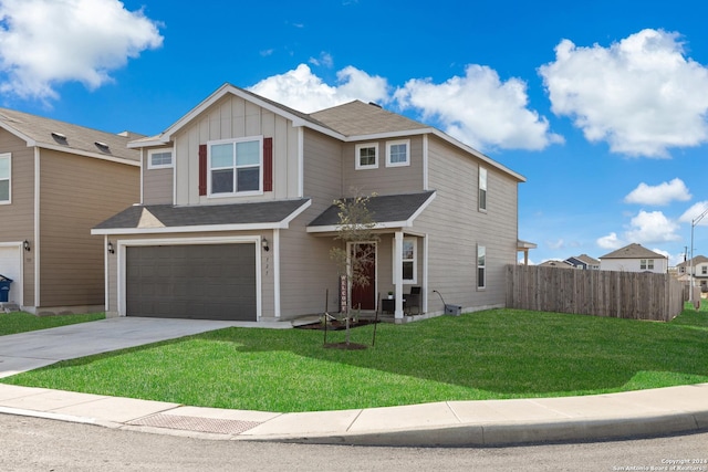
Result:
<svg viewBox="0 0 708 472"><path fill-rule="evenodd" d="M322 109L310 114L310 117L324 123L327 127L344 136L362 136L430 128L427 125L414 122L405 116L387 112L377 105L371 105L360 101Z"/></svg>

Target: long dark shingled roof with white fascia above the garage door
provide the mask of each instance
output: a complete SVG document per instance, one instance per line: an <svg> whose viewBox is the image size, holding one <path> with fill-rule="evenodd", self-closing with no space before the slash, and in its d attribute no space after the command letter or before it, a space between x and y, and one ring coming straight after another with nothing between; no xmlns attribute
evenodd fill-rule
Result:
<svg viewBox="0 0 708 472"><path fill-rule="evenodd" d="M288 228L290 221L310 204L310 199L189 207L135 204L98 223L91 233L132 234Z"/></svg>

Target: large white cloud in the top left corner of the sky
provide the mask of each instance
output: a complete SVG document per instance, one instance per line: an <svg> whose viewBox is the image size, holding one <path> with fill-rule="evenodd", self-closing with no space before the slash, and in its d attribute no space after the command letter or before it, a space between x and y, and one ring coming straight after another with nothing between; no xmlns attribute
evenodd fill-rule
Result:
<svg viewBox="0 0 708 472"><path fill-rule="evenodd" d="M93 90L162 43L157 24L118 0L2 0L0 91L48 99L64 82Z"/></svg>

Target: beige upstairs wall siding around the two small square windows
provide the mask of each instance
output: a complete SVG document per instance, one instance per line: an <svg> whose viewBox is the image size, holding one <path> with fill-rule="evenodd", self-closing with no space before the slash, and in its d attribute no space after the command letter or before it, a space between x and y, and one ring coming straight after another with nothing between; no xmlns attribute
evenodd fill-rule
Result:
<svg viewBox="0 0 708 472"><path fill-rule="evenodd" d="M386 143L406 138L382 139L378 145L378 168L356 169L356 151L354 143L343 147L342 166L344 168L343 189L347 195L358 191L371 195L410 193L423 190L423 137L410 137L410 165L403 167L386 167Z"/></svg>

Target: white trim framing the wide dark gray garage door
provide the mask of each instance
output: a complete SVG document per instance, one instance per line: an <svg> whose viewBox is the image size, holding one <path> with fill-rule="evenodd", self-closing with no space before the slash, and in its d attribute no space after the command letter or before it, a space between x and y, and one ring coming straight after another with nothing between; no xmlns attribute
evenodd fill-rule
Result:
<svg viewBox="0 0 708 472"><path fill-rule="evenodd" d="M256 251L256 319L261 318L261 237L222 237L222 238L179 238L179 239L140 239L116 241L118 268L118 316L126 316L126 248L137 245L194 245L194 244L253 244Z"/></svg>

